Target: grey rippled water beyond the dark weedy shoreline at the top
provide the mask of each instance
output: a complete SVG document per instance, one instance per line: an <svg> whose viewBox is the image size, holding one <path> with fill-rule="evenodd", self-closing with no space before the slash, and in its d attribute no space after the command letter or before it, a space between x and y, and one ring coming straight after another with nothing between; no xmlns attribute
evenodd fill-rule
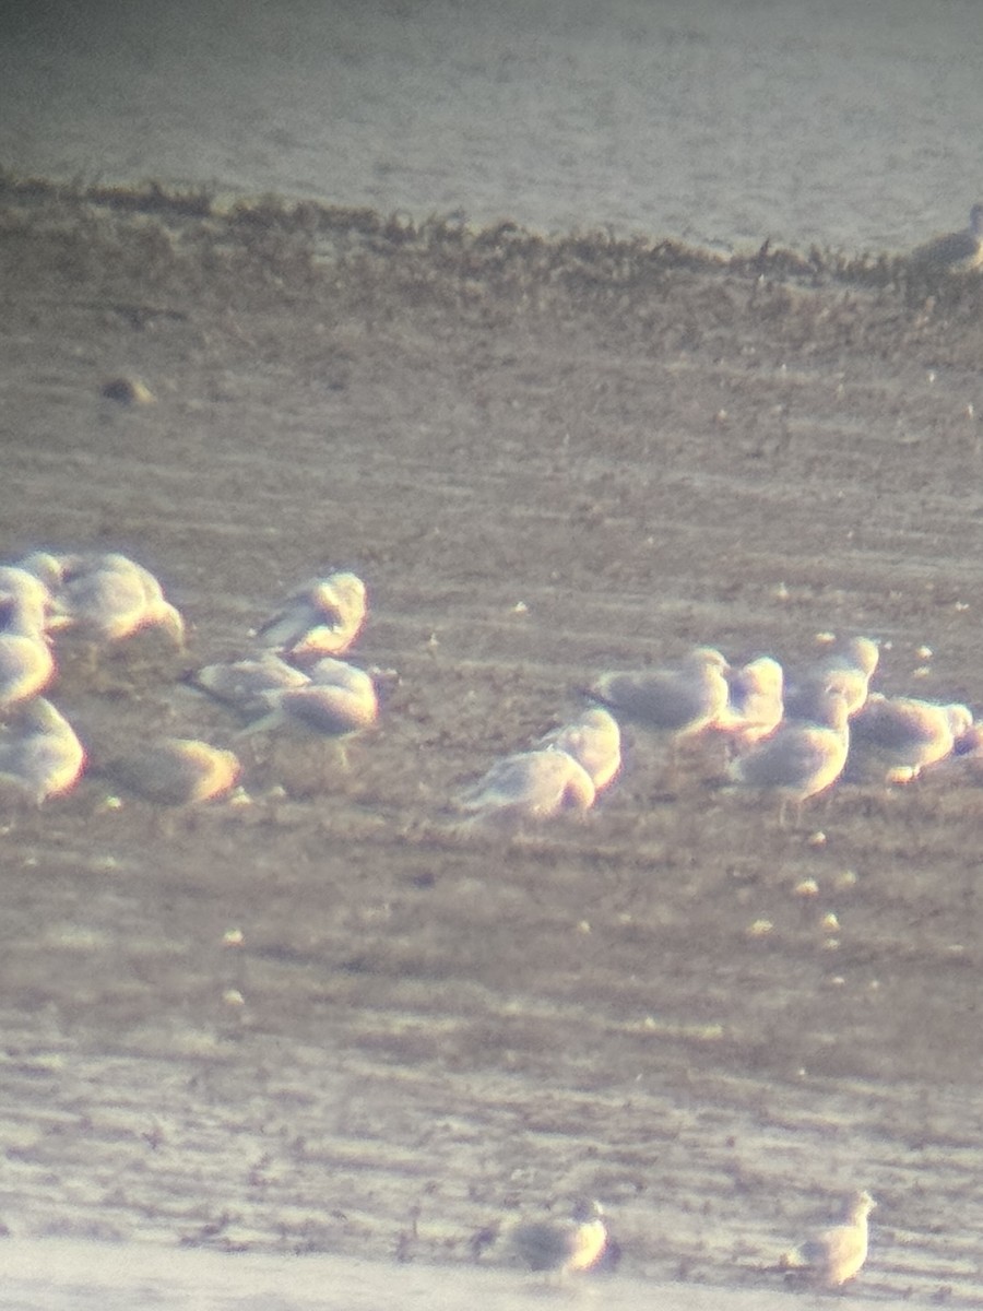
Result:
<svg viewBox="0 0 983 1311"><path fill-rule="evenodd" d="M974 0L261 0L3 24L0 161L723 248L900 248L979 198Z"/></svg>

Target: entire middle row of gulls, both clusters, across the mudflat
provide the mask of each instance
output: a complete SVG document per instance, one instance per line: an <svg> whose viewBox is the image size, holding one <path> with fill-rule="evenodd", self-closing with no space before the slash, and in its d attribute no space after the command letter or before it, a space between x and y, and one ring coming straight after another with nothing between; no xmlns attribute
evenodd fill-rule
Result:
<svg viewBox="0 0 983 1311"><path fill-rule="evenodd" d="M366 586L336 572L294 590L240 659L189 676L233 708L240 737L282 728L339 739L375 724L372 674L345 656L367 616ZM42 694L67 631L93 645L160 628L183 648L185 623L159 581L118 553L35 552L0 566L0 789L31 801L67 792L85 768L83 743ZM870 690L879 646L830 638L793 676L771 656L730 666L699 646L679 663L602 674L590 704L531 747L495 760L453 798L465 826L548 819L590 809L621 771L623 728L687 742L723 743L721 783L801 806L840 777L904 783L952 758L983 754L983 726L962 704ZM127 762L135 791L161 802L227 794L240 776L228 750L190 738L142 743Z"/></svg>

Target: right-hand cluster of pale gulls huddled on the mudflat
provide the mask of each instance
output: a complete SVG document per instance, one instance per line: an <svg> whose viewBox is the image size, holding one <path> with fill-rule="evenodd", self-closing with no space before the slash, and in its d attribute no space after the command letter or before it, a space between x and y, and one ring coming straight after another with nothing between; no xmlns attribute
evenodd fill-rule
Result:
<svg viewBox="0 0 983 1311"><path fill-rule="evenodd" d="M699 646L678 665L600 675L594 703L530 750L495 762L459 798L476 819L547 818L586 810L621 768L621 729L689 741L722 741L723 784L775 794L784 822L839 779L910 783L924 770L983 754L983 726L962 704L870 690L879 646L840 642L786 678L771 656L731 667Z"/></svg>

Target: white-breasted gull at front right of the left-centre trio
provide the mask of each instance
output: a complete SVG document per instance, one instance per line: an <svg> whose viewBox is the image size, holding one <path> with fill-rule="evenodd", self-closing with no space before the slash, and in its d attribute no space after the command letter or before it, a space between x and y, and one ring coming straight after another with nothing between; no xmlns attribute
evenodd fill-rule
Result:
<svg viewBox="0 0 983 1311"><path fill-rule="evenodd" d="M309 667L303 687L260 694L266 713L240 737L294 726L324 737L343 737L371 728L379 717L379 696L371 675L345 661L325 657Z"/></svg>

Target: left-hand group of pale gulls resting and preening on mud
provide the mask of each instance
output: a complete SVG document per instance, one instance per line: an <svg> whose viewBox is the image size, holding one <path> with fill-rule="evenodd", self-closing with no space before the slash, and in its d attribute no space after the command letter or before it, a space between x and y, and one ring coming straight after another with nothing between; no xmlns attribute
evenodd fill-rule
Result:
<svg viewBox="0 0 983 1311"><path fill-rule="evenodd" d="M333 573L292 591L254 635L254 650L191 675L201 691L235 708L242 734L303 728L329 738L367 728L379 714L372 678L338 657L366 620L366 589ZM183 650L185 621L160 582L113 552L34 552L0 566L0 796L41 804L68 792L87 750L66 716L42 694L58 673L64 633L98 652L148 628ZM240 776L235 753L194 738L143 742L118 762L148 800L206 801Z"/></svg>

